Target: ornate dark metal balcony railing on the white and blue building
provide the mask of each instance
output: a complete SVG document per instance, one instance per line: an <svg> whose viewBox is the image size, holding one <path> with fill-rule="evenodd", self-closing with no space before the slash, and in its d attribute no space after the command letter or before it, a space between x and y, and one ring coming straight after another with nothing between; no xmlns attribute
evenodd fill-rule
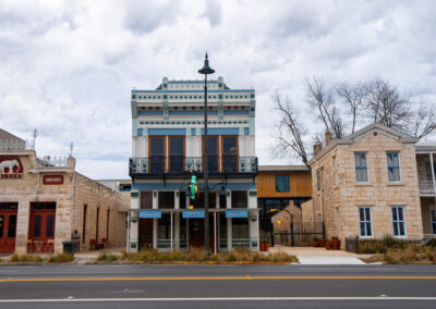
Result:
<svg viewBox="0 0 436 309"><path fill-rule="evenodd" d="M183 157L183 156L152 156L130 158L129 172L133 174L184 174L184 173L203 173L204 158L202 157ZM208 156L209 174L239 174L239 173L257 173L256 157L238 157L215 154Z"/></svg>

